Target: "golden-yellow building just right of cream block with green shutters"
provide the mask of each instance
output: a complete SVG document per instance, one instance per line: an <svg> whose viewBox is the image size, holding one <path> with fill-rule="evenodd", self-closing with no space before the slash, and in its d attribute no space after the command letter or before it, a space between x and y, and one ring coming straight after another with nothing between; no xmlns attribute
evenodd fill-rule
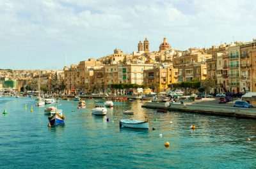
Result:
<svg viewBox="0 0 256 169"><path fill-rule="evenodd" d="M157 65L150 70L144 70L143 84L155 92L166 92L169 84L178 82L178 69L172 65Z"/></svg>

